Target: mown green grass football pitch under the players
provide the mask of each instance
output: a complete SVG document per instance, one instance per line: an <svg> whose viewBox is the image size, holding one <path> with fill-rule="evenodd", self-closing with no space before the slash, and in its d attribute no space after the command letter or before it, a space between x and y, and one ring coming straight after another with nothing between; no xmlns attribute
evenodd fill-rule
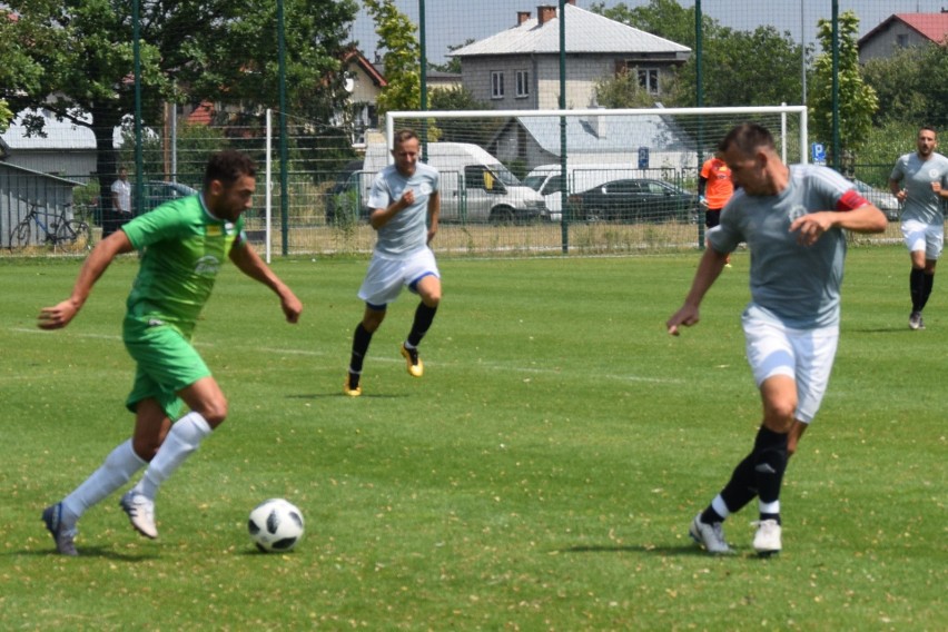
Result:
<svg viewBox="0 0 948 632"><path fill-rule="evenodd" d="M784 480L783 552L753 555L753 503L725 524L738 554L711 557L688 525L750 451L760 402L747 253L700 325L665 333L699 256L443 260L425 376L398 355L403 294L355 399L342 386L366 260L277 260L305 305L296 326L228 264L196 336L227 421L161 487L157 541L116 494L80 522L77 559L40 513L131 432L120 324L137 259L51 333L37 313L80 263L0 260L0 629L944 629L948 270L911 332L905 249L850 249L833 375ZM305 515L290 553L248 539L269 497Z"/></svg>

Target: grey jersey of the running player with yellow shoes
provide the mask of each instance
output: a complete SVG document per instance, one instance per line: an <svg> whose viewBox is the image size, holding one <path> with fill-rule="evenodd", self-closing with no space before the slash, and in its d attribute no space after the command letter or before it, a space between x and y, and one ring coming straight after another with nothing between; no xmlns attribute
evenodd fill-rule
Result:
<svg viewBox="0 0 948 632"><path fill-rule="evenodd" d="M406 189L415 191L415 203L398 213L378 229L375 251L392 258L404 258L427 247L428 199L437 191L438 172L424 162L415 165L415 172L406 178L395 165L385 167L375 176L368 194L371 209L388 208Z"/></svg>

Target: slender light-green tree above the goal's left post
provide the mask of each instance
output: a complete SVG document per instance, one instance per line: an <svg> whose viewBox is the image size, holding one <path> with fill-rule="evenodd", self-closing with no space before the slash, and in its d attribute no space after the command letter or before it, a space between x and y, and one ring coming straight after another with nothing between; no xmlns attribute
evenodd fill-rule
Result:
<svg viewBox="0 0 948 632"><path fill-rule="evenodd" d="M415 24L395 8L394 0L365 0L365 8L375 21L378 48L388 82L376 99L378 113L421 108L421 46Z"/></svg>

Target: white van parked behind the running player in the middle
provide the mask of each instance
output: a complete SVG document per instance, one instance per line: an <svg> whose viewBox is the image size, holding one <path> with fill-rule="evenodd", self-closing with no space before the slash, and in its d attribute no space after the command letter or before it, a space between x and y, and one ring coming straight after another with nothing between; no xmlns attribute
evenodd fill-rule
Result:
<svg viewBox="0 0 948 632"><path fill-rule="evenodd" d="M424 146L423 146L424 152ZM362 178L368 188L389 164L384 144L369 144ZM441 174L441 220L512 224L545 218L543 197L521 182L500 160L468 142L428 142L426 162Z"/></svg>

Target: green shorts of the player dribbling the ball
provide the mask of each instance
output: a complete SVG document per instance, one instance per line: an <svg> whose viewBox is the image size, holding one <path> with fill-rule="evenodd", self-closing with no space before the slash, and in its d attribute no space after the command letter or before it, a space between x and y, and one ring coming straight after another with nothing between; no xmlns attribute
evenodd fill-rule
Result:
<svg viewBox="0 0 948 632"><path fill-rule="evenodd" d="M204 359L177 327L154 318L127 316L122 340L136 363L126 407L134 413L139 402L154 397L168 417L177 419L184 406L178 392L210 376Z"/></svg>

